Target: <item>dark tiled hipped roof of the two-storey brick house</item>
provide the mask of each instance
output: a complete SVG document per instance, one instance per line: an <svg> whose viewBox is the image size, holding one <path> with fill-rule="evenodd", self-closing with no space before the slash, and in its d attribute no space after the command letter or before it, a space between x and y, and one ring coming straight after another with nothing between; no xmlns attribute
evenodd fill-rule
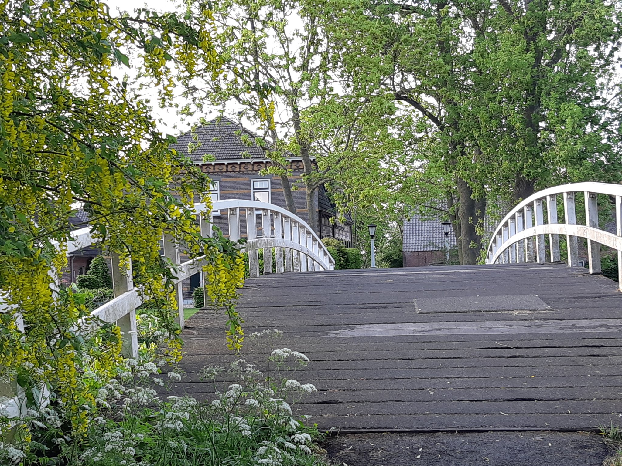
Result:
<svg viewBox="0 0 622 466"><path fill-rule="evenodd" d="M177 144L171 147L188 155L194 162L203 162L205 155L212 155L216 160L266 158L264 150L255 142L258 135L227 117L218 116L199 126L195 133L200 145L192 153L188 153L188 144L195 145L196 141L191 131L178 136ZM250 145L243 142L243 135L248 136Z"/></svg>

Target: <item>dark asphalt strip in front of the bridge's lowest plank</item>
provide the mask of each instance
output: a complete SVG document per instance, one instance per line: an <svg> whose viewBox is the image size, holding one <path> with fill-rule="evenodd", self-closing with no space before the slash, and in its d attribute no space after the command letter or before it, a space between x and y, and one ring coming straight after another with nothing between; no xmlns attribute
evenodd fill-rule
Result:
<svg viewBox="0 0 622 466"><path fill-rule="evenodd" d="M609 454L587 432L354 434L323 446L340 466L601 466Z"/></svg>

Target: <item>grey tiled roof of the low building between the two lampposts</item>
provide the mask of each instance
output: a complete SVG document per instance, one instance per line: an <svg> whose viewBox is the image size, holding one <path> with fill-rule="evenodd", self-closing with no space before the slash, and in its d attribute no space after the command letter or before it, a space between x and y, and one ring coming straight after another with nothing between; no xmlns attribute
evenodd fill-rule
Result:
<svg viewBox="0 0 622 466"><path fill-rule="evenodd" d="M439 217L414 215L404 222L402 250L404 252L439 251L445 247L445 234ZM456 237L449 232L449 247L456 245Z"/></svg>

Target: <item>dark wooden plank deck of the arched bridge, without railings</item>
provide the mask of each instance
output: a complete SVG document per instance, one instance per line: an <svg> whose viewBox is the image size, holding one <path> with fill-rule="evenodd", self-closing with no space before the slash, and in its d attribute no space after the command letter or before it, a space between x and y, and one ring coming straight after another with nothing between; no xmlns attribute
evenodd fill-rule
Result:
<svg viewBox="0 0 622 466"><path fill-rule="evenodd" d="M285 332L304 352L297 404L320 429L594 429L621 422L622 294L561 265L298 273L248 280L250 334ZM221 362L223 318L183 332L179 393L210 396L197 372ZM251 356L252 359L252 356ZM621 414L618 414L621 413Z"/></svg>

